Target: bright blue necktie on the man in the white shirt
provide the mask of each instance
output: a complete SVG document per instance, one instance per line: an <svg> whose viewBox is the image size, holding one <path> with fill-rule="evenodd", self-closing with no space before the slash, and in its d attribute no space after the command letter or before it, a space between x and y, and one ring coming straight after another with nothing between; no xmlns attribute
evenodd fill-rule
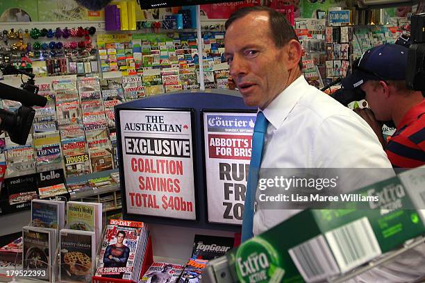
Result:
<svg viewBox="0 0 425 283"><path fill-rule="evenodd" d="M263 157L264 137L269 122L263 112L257 113L256 125L252 135L251 163L249 164L249 175L247 193L245 195L244 218L242 220L242 243L253 237L253 200L256 196L258 176L260 175L261 157Z"/></svg>

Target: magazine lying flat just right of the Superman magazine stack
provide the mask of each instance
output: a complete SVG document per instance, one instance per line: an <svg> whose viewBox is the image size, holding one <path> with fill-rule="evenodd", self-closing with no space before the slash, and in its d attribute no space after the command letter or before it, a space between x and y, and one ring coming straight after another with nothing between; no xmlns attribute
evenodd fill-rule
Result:
<svg viewBox="0 0 425 283"><path fill-rule="evenodd" d="M167 282L176 283L184 266L169 264L167 262L153 262L149 269L142 275L138 283Z"/></svg>

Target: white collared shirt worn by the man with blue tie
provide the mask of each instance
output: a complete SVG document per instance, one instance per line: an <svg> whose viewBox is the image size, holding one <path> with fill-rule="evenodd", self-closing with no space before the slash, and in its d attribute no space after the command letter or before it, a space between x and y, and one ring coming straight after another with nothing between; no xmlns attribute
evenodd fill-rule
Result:
<svg viewBox="0 0 425 283"><path fill-rule="evenodd" d="M369 178L360 175L367 170L356 171L358 178L344 178L343 187L352 188L348 191L394 175L372 128L358 114L308 85L303 76L294 80L263 112L269 126L262 170L332 168L344 175L347 168L388 168L385 175ZM258 204L259 191L256 192ZM262 209L258 205L253 234L265 232L299 211Z"/></svg>

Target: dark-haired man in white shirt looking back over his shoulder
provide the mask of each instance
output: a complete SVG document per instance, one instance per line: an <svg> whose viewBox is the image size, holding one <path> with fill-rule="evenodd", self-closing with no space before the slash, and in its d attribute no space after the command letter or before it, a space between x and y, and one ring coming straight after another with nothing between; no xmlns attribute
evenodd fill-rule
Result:
<svg viewBox="0 0 425 283"><path fill-rule="evenodd" d="M224 40L226 61L244 103L258 106L269 122L262 170L333 168L347 175L347 168L386 168L381 175L355 171L340 184L349 191L394 174L372 128L303 78L301 44L285 16L264 6L242 8L227 20ZM270 209L260 202L258 191L251 192L256 194L253 235L300 211L285 205ZM375 282L382 276L374 277Z"/></svg>

